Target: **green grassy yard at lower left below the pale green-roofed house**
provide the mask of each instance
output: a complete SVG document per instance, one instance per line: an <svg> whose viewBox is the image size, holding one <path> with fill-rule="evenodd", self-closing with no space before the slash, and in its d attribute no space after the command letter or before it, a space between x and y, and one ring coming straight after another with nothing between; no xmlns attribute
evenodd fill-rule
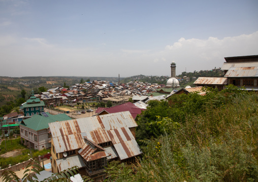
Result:
<svg viewBox="0 0 258 182"><path fill-rule="evenodd" d="M6 147L7 150L5 150L5 141L2 141L0 148L2 149L2 151L0 152L0 154L5 154L7 152L13 151L13 150L22 150L22 154L15 156L15 157L8 157L8 158L3 158L0 157L0 166L2 168L6 168L8 167L9 164L11 165L15 165L18 163L21 163L23 161L27 161L30 158L30 151L29 149L26 148L25 145L21 144L20 138L17 139L12 139L12 143L11 140L7 140L6 141ZM38 158L38 156L42 156L47 154L48 152L50 152L50 150L42 150L42 151L38 151L38 150L31 150L31 155L32 158L36 159Z"/></svg>

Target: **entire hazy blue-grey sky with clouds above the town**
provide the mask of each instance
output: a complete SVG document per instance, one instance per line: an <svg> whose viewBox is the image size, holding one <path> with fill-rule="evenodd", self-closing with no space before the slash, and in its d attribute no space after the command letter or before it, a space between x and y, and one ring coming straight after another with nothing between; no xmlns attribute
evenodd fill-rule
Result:
<svg viewBox="0 0 258 182"><path fill-rule="evenodd" d="M258 55L258 1L0 0L0 76L170 76Z"/></svg>

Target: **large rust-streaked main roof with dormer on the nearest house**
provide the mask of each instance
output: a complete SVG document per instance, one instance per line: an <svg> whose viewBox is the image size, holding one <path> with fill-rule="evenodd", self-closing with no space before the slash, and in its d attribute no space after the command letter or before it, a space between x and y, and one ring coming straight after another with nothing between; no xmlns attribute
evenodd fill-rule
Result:
<svg viewBox="0 0 258 182"><path fill-rule="evenodd" d="M79 153L85 160L112 155L107 151L94 154L96 148L102 149L98 144L108 141L112 141L121 160L142 154L129 129L136 126L128 111L49 124L56 153L80 149Z"/></svg>

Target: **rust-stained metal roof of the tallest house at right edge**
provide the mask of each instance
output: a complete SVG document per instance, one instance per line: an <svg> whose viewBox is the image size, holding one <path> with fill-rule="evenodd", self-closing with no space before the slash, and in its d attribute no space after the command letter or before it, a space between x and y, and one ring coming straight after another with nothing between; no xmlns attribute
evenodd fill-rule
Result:
<svg viewBox="0 0 258 182"><path fill-rule="evenodd" d="M258 77L258 67L231 67L224 77Z"/></svg>

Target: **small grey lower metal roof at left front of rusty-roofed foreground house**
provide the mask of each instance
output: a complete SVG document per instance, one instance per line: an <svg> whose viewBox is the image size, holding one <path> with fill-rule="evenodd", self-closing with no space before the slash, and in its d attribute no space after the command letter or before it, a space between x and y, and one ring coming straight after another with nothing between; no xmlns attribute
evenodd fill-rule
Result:
<svg viewBox="0 0 258 182"><path fill-rule="evenodd" d="M59 171L66 170L73 166L78 166L79 168L85 167L83 159L80 155L56 159L56 165Z"/></svg>

